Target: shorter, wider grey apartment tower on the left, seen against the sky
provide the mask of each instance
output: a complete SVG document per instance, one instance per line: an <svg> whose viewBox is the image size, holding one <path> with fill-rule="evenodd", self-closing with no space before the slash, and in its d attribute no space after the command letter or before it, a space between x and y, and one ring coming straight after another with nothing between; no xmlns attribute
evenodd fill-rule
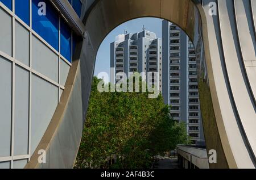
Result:
<svg viewBox="0 0 256 180"><path fill-rule="evenodd" d="M159 92L162 93L162 39L156 37L154 32L143 30L135 34L126 34L125 40L110 44L110 68L114 73L110 74L110 82L117 83L122 76L117 73L126 73L129 77L131 73L152 73L144 76L143 81L150 78L150 83L154 83L159 76Z"/></svg>

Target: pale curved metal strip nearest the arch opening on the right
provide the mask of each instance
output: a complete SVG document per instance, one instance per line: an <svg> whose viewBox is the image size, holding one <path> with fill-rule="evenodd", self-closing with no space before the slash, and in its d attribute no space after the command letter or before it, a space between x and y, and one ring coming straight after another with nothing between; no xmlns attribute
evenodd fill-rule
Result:
<svg viewBox="0 0 256 180"><path fill-rule="evenodd" d="M207 17L207 26L208 26L208 37L209 37L209 50L210 50L210 56L212 58L212 70L213 70L213 76L214 76L214 82L216 83L216 91L217 91L217 99L218 103L220 104L220 111L221 111L221 117L216 116L216 119L223 119L225 130L228 136L228 140L231 140L232 145L234 146L235 142L232 141L232 136L234 135L234 132L238 132L237 135L240 135L240 132L237 130L237 124L236 124L236 116L234 115L234 111L232 108L232 103L230 102L229 97L229 90L228 86L226 84L225 78L226 75L223 73L223 66L221 62L223 61L222 52L220 52L221 47L220 46L220 32L218 28L218 16L211 16L208 14L209 12L209 3L212 2L212 0L204 1L204 11L205 15ZM217 2L217 1L216 1ZM209 71L209 68L208 68ZM209 79L209 81L212 81ZM215 107L216 108L216 107ZM232 128L235 127L235 129L231 129L230 124L232 124ZM240 141L237 141L237 146L241 145L238 144L241 143L241 137ZM230 144L231 146L231 144ZM225 147L224 147L225 148ZM233 154L234 155L234 154ZM236 158L236 156L234 157Z"/></svg>

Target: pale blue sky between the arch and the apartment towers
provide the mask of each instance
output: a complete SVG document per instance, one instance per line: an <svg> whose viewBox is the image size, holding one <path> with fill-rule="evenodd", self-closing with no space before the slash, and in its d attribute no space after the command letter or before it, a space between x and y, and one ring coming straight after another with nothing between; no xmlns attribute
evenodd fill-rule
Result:
<svg viewBox="0 0 256 180"><path fill-rule="evenodd" d="M125 30L127 33L131 34L141 32L143 25L147 31L155 32L157 37L162 38L162 19L139 18L121 24L110 32L110 34L101 43L96 57L94 76L97 76L98 73L106 72L109 74L110 72L110 43L118 39L118 37L121 37Z"/></svg>

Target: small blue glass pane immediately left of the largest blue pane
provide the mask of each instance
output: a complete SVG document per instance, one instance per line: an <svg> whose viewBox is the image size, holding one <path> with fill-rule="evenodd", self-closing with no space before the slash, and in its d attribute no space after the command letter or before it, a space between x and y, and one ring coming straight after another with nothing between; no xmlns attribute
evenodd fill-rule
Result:
<svg viewBox="0 0 256 180"><path fill-rule="evenodd" d="M30 25L30 0L15 0L15 14Z"/></svg>

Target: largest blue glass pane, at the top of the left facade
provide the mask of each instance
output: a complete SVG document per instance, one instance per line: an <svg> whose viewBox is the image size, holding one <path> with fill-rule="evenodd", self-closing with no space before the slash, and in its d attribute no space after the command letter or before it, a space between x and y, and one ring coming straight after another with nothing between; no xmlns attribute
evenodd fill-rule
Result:
<svg viewBox="0 0 256 180"><path fill-rule="evenodd" d="M32 0L32 29L59 51L59 15L48 0Z"/></svg>

